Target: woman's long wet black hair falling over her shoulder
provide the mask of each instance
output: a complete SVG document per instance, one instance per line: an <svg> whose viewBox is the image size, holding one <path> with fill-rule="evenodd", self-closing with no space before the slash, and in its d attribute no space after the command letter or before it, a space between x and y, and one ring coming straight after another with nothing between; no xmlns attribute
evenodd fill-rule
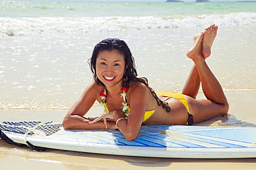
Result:
<svg viewBox="0 0 256 170"><path fill-rule="evenodd" d="M122 54L122 56L124 56L124 59L125 59L125 73L122 76L122 87L129 88L131 87L133 82L143 83L149 88L154 98L156 98L158 105L162 105L163 108L165 108L166 111L169 112L171 110L170 107L167 105L167 103L163 103L163 101L158 98L158 96L154 92L154 89L149 87L147 78L137 77L138 74L136 71L134 57L131 55L131 50L129 49L127 43L125 43L125 41L122 41L120 39L104 39L100 41L100 43L97 43L95 45L93 49L93 54L91 55L91 59L89 59L88 61L91 67L91 72L93 73L93 80L95 81L95 83L97 83L98 85L104 86L104 83L100 81L100 79L97 77L97 74L96 74L96 59L98 55L100 54L100 52L103 52L103 51L111 52L113 50L118 51L120 54Z"/></svg>

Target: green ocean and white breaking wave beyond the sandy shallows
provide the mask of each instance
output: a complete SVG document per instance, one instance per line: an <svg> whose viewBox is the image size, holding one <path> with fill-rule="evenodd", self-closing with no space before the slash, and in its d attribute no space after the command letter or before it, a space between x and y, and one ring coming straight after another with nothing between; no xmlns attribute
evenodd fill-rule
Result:
<svg viewBox="0 0 256 170"><path fill-rule="evenodd" d="M0 36L254 25L251 3L1 1Z"/></svg>

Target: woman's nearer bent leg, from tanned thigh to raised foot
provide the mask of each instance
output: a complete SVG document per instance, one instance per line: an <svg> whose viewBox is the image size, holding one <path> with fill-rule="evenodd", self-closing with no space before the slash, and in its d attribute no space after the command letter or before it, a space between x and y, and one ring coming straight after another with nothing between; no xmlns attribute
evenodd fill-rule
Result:
<svg viewBox="0 0 256 170"><path fill-rule="evenodd" d="M204 33L196 36L194 47L187 53L187 56L194 61L201 80L203 93L208 99L194 100L194 98L188 98L191 114L193 114L195 122L228 113L228 101L223 93L223 89L219 84L219 81L217 81L217 78L215 78L214 74L212 74L210 68L205 63L206 57L202 54L201 42L204 38L210 40L212 34L208 33L212 31L214 30L205 30ZM217 30L215 31L217 32ZM205 35L204 37L203 34ZM212 39L214 39L215 36L212 36ZM211 41L213 42L213 40Z"/></svg>

